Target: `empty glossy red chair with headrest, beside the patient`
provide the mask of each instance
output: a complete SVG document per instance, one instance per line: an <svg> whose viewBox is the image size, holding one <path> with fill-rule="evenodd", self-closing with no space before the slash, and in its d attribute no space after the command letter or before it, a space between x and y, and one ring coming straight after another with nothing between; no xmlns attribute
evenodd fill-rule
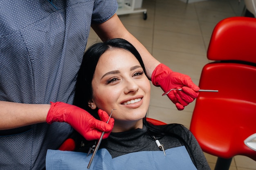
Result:
<svg viewBox="0 0 256 170"><path fill-rule="evenodd" d="M190 130L202 150L218 157L215 170L228 170L232 158L256 161L256 151L244 141L256 133L256 18L230 17L213 30L201 89ZM256 141L254 141L256 142Z"/></svg>

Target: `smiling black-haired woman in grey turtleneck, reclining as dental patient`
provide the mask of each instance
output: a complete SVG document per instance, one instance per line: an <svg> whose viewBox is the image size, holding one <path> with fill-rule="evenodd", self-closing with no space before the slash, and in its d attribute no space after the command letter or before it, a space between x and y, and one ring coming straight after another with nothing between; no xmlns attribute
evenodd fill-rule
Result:
<svg viewBox="0 0 256 170"><path fill-rule="evenodd" d="M166 169L168 163L173 165L169 159L171 155L174 159L181 156L177 160L180 165L186 163L183 158L187 155L191 162L188 167L210 169L198 142L186 127L181 124L155 126L146 121L150 82L139 53L128 41L110 39L94 44L85 52L74 101L74 105L87 110L97 119L98 111L103 110L110 115L111 110L116 109L111 116L115 120L114 128L109 137L101 142L100 148L106 148L114 159L126 160L121 165L124 169L138 168L143 163L157 165L167 159L163 166L157 165L159 169ZM79 147L76 151L87 153L89 147L97 143L86 141L81 136L77 138L77 135ZM171 150L176 148L183 148L183 151L176 154L175 150ZM154 158L146 156L151 152Z"/></svg>

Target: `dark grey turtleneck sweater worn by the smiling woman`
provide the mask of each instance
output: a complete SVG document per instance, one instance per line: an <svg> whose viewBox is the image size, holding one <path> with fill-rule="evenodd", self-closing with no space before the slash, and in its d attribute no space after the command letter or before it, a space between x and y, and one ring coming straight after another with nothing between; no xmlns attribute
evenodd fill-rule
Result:
<svg viewBox="0 0 256 170"><path fill-rule="evenodd" d="M178 135L186 142L186 148L195 167L198 168L198 170L210 170L202 149L189 129L186 129L186 127L182 125L173 126L172 124L155 126L155 128L168 134L163 135L161 138L156 137L160 144L163 144L164 149L186 146L184 142L173 137ZM132 152L159 150L155 139L149 135L145 125L143 125L143 129L110 133L108 139L101 143L101 148L106 148L112 155L112 158Z"/></svg>

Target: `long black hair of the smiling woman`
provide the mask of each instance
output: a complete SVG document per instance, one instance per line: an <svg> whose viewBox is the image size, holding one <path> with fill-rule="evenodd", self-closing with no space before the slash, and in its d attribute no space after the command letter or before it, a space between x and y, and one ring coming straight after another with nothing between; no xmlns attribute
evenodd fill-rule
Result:
<svg viewBox="0 0 256 170"><path fill-rule="evenodd" d="M131 52L139 61L144 73L146 74L146 69L139 52L125 39L109 39L105 42L98 42L88 48L83 55L83 61L77 76L74 105L85 109L97 119L99 119L97 113L98 109L91 109L88 106L88 102L92 100L92 78L101 55L107 50L113 48L121 48ZM120 60L121 59L122 58L120 58Z"/></svg>

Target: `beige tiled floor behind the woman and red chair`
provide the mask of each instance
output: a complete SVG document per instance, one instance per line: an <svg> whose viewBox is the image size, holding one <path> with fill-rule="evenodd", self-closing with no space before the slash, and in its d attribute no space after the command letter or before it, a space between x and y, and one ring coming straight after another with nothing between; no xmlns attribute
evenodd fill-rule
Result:
<svg viewBox="0 0 256 170"><path fill-rule="evenodd" d="M214 26L222 19L241 16L241 0L207 0L186 4L180 0L144 0L148 19L142 13L120 15L120 19L160 62L172 70L191 76L198 85L202 67L209 63L207 46ZM99 41L91 31L88 46ZM195 102L178 111L162 89L152 85L148 117L166 123L181 123L189 128ZM205 154L214 169L217 158ZM256 170L256 161L244 156L234 157L230 170Z"/></svg>

